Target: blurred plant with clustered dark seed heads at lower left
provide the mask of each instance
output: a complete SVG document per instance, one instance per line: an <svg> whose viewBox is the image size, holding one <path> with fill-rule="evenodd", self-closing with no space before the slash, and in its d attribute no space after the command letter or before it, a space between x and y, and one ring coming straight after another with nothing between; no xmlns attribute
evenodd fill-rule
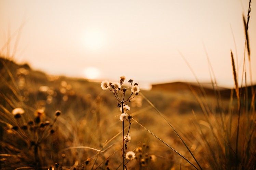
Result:
<svg viewBox="0 0 256 170"><path fill-rule="evenodd" d="M44 116L43 109L37 109L35 111L35 119L29 120L31 118L30 115L21 107L14 108L12 112L9 112L3 105L0 105L0 108L4 111L0 111L1 115L7 119L0 120L7 132L6 139L12 139L9 142L1 141L1 145L4 148L3 152L6 153L1 154L1 156L15 155L13 159L9 158L10 163L13 164L12 168L15 168L15 164L20 161L25 165L31 166L29 168L41 169L43 159L40 158L42 157L40 155L43 151L43 146L46 146L47 140L54 134L53 125L61 112L56 111L54 120L50 122L49 120L42 120ZM17 148L11 146L16 146ZM19 160L16 160L15 157Z"/></svg>

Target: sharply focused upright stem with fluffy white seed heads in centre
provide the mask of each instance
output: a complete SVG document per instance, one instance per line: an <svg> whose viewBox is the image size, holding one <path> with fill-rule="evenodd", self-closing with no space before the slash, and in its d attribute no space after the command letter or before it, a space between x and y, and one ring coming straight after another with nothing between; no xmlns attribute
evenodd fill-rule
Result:
<svg viewBox="0 0 256 170"><path fill-rule="evenodd" d="M131 87L125 88L122 87L123 82L125 80L125 77L120 77L120 82L109 82L109 81L103 81L101 84L101 87L103 90L109 90L113 93L114 97L117 99L117 107L120 108L120 121L122 121L122 128L123 128L123 137L122 137L122 142L123 142L123 147L122 147L122 157L123 157L123 170L126 168L126 164L129 162L129 160L132 160L135 158L135 153L132 151L129 151L125 154L125 151L127 150L127 143L131 140L131 136L129 134L130 127L131 127L131 118L127 111L130 111L130 107L127 105L127 102L130 102L133 98L135 98L139 94L139 86L137 83L133 84L133 80L130 79L128 83L131 84ZM130 92L128 97L128 89L130 88ZM126 95L126 96L125 96ZM129 129L127 133L124 133L124 122L128 121L129 122ZM124 135L126 134L126 135ZM128 162L125 164L124 160L125 158L128 160Z"/></svg>

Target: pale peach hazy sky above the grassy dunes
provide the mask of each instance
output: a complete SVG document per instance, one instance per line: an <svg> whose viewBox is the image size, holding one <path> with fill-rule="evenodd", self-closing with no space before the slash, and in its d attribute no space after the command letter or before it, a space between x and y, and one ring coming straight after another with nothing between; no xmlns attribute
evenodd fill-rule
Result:
<svg viewBox="0 0 256 170"><path fill-rule="evenodd" d="M0 54L51 75L112 81L125 76L150 88L157 83L194 82L195 75L199 82L209 82L214 74L219 86L232 88L230 50L241 84L242 14L247 17L248 4L248 0L0 0ZM246 52L245 68L248 83L251 70L255 84L254 1L251 7L251 62Z"/></svg>

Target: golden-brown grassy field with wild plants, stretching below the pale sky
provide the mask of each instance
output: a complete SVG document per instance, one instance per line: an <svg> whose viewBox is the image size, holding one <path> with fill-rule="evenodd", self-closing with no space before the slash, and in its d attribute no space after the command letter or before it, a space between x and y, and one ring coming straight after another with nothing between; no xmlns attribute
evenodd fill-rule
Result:
<svg viewBox="0 0 256 170"><path fill-rule="evenodd" d="M0 56L0 168L256 169L256 88L239 86L230 61L224 98L214 78L211 95L200 82L139 90L139 80L51 76Z"/></svg>

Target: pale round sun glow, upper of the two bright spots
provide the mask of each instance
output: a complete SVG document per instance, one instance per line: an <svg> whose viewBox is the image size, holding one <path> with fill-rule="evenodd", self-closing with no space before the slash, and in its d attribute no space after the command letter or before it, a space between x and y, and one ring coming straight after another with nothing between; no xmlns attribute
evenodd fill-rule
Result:
<svg viewBox="0 0 256 170"><path fill-rule="evenodd" d="M83 44L88 49L99 49L104 45L103 34L99 31L88 31L82 37Z"/></svg>

